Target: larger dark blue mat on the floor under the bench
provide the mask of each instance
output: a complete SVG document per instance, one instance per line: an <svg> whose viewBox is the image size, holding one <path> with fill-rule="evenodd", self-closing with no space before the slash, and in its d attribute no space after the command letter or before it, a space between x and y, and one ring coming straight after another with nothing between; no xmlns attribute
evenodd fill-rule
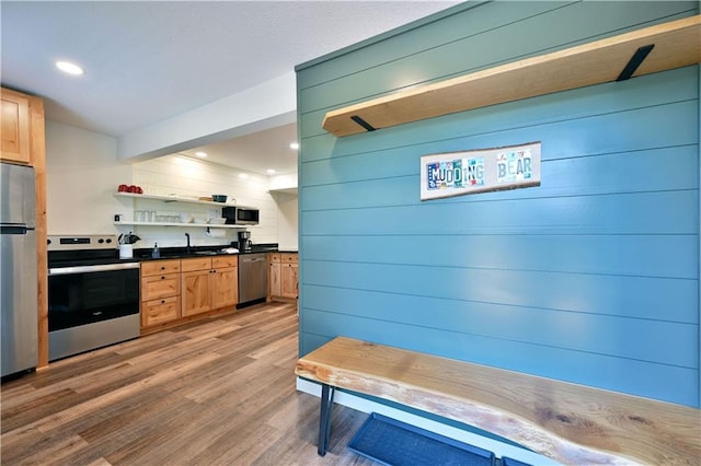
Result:
<svg viewBox="0 0 701 466"><path fill-rule="evenodd" d="M494 453L376 412L348 443L355 453L384 465L493 466Z"/></svg>

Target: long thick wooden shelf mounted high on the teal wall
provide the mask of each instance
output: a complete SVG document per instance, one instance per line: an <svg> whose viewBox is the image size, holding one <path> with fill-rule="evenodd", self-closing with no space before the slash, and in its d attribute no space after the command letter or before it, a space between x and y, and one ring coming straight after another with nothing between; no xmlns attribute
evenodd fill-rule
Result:
<svg viewBox="0 0 701 466"><path fill-rule="evenodd" d="M699 62L696 15L332 110L322 126L355 135Z"/></svg>

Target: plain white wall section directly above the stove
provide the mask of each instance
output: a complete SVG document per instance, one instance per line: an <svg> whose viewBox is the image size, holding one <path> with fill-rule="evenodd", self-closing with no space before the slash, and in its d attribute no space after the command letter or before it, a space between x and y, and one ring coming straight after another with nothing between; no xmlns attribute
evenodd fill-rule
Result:
<svg viewBox="0 0 701 466"><path fill-rule="evenodd" d="M115 138L46 120L48 234L114 234L112 196L131 182L131 167L116 162Z"/></svg>

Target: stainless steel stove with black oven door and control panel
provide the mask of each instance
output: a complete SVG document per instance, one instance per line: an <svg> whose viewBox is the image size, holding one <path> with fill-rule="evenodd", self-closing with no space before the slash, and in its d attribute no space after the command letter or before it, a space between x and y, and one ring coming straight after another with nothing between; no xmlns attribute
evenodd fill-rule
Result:
<svg viewBox="0 0 701 466"><path fill-rule="evenodd" d="M112 235L48 236L49 361L139 336L139 263Z"/></svg>

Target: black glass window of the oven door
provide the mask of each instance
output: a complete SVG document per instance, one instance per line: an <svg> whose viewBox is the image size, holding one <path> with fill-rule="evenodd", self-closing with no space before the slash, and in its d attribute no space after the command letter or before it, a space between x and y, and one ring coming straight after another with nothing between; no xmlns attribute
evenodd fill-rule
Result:
<svg viewBox="0 0 701 466"><path fill-rule="evenodd" d="M48 278L49 331L138 313L138 269Z"/></svg>

